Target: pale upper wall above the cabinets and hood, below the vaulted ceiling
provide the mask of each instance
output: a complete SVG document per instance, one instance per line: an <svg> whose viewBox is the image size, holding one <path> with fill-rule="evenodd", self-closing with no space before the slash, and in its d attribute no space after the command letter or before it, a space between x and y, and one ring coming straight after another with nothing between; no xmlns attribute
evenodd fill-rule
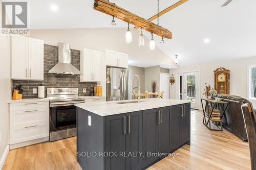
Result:
<svg viewBox="0 0 256 170"><path fill-rule="evenodd" d="M175 65L157 46L155 50L150 50L150 40L146 37L145 45L138 46L139 32L136 29L131 31L132 43L125 42L125 28L31 30L30 37L42 39L50 45L66 42L76 50L89 48L101 51L103 57L106 49L126 53L129 54L130 65L134 66Z"/></svg>

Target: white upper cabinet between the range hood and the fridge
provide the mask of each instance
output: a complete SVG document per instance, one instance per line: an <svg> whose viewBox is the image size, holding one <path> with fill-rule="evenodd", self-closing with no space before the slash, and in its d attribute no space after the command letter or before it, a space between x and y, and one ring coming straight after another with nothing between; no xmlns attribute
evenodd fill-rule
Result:
<svg viewBox="0 0 256 170"><path fill-rule="evenodd" d="M85 49L80 56L80 81L101 81L101 52Z"/></svg>

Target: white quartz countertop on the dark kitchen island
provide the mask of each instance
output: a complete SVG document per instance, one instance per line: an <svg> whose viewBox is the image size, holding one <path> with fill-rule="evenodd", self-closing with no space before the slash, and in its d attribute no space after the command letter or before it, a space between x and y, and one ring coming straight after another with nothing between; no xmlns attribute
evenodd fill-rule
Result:
<svg viewBox="0 0 256 170"><path fill-rule="evenodd" d="M137 100L129 100L137 101ZM128 113L140 110L154 109L160 107L167 107L179 104L190 103L184 100L173 100L173 99L142 99L141 103L129 103L129 104L117 104L119 102L127 101L112 101L112 102L88 102L78 103L75 106L100 116L108 116L114 114Z"/></svg>

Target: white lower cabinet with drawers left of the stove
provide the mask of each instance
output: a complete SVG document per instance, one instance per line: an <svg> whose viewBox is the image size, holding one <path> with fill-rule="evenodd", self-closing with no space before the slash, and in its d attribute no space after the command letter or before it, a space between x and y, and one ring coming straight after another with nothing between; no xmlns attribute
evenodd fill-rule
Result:
<svg viewBox="0 0 256 170"><path fill-rule="evenodd" d="M49 136L49 102L9 104L9 144Z"/></svg>

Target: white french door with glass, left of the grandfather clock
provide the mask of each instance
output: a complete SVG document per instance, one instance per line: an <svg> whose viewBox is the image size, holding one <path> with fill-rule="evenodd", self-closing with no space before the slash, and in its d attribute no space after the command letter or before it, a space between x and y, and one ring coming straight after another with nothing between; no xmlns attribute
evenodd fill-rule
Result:
<svg viewBox="0 0 256 170"><path fill-rule="evenodd" d="M199 109L199 72L178 74L178 99L191 102L191 108Z"/></svg>

